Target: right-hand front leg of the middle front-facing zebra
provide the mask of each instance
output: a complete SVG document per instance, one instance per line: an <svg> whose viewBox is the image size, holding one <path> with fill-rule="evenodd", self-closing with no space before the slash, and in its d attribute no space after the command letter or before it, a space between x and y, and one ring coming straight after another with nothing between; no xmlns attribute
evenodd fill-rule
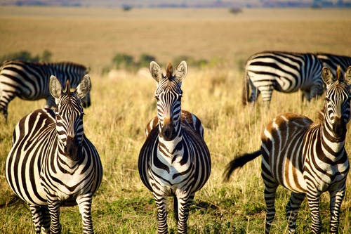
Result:
<svg viewBox="0 0 351 234"><path fill-rule="evenodd" d="M194 193L180 192L177 195L178 199L178 222L177 231L178 233L187 233L187 219L189 216L189 205L194 199Z"/></svg>

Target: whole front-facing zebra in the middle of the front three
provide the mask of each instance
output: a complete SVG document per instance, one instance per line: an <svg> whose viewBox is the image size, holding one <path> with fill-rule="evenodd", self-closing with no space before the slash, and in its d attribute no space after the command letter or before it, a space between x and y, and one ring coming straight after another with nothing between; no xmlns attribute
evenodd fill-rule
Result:
<svg viewBox="0 0 351 234"><path fill-rule="evenodd" d="M138 168L144 185L152 191L157 205L159 233L167 233L166 197L173 196L178 233L187 233L190 202L211 172L211 157L199 119L180 108L180 89L187 74L181 62L173 74L169 64L166 76L152 61L150 72L157 82L157 120L147 125L147 139L140 150Z"/></svg>

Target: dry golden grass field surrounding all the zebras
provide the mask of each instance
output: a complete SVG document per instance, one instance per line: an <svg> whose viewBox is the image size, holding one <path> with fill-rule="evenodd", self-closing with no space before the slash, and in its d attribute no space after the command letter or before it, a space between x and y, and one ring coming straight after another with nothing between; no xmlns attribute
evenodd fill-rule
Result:
<svg viewBox="0 0 351 234"><path fill-rule="evenodd" d="M156 115L155 84L150 76L101 75L116 53L149 53L164 67L176 56L216 60L201 70L189 67L183 82L182 108L196 113L205 127L213 169L195 196L188 221L190 233L263 233L265 203L260 160L247 164L223 183L225 165L241 152L258 149L260 131L279 112L298 112L315 119L322 100L303 104L300 93L273 93L269 111L241 106L243 64L263 50L324 51L351 56L351 11L310 9L13 8L0 7L0 56L20 50L48 49L53 60L71 60L91 67L92 102L84 130L100 152L104 178L93 200L96 233L156 233L157 211L152 194L138 175L138 153L144 127ZM0 122L0 233L34 233L23 202L6 205L13 193L4 164L15 124L44 100L16 98L8 123ZM349 124L350 125L350 124ZM350 126L349 126L350 129ZM346 149L351 152L351 131ZM279 188L272 233L287 233L284 207L289 193ZM171 203L171 202L170 202ZM329 227L329 195L320 204L323 233ZM340 233L351 233L351 181L341 207ZM62 233L81 233L78 207L61 209ZM309 233L307 202L299 212L298 233ZM176 233L173 212L168 227Z"/></svg>

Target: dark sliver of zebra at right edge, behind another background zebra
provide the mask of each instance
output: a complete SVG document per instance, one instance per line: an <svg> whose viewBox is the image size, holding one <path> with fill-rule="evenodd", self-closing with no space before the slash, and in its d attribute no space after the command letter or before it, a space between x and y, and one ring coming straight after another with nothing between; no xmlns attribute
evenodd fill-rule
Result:
<svg viewBox="0 0 351 234"><path fill-rule="evenodd" d="M329 67L331 73L336 76L336 67L340 66L345 71L351 65L351 57L338 56L331 53L317 53L317 58L321 60L324 67Z"/></svg>

